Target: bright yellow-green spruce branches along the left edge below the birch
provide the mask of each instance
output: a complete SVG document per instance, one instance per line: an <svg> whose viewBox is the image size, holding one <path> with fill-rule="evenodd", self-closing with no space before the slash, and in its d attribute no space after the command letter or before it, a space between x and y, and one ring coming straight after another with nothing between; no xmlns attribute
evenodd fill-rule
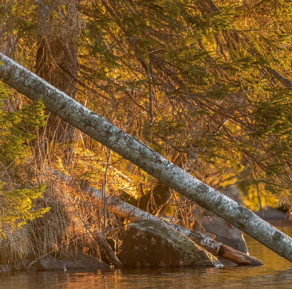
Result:
<svg viewBox="0 0 292 289"><path fill-rule="evenodd" d="M0 83L0 100L8 97L11 90ZM33 188L12 189L15 180L9 176L7 167L17 171L29 154L29 141L35 136L28 132L29 127L44 125L44 105L37 101L25 105L22 109L9 112L4 109L0 101L0 167L3 179L0 182L0 235L6 238L7 230L20 229L27 221L41 217L49 208L33 210L33 200L41 198L45 184ZM9 182L9 183L8 183Z"/></svg>

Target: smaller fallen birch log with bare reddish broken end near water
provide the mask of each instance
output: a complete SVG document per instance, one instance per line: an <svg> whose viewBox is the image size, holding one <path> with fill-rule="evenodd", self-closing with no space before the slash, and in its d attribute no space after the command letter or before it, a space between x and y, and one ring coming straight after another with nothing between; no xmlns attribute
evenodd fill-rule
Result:
<svg viewBox="0 0 292 289"><path fill-rule="evenodd" d="M64 182L72 187L78 187L80 191L82 191L83 195L86 195L91 202L101 206L102 201L102 192L92 186L89 186L86 181L76 180L71 176L63 174L57 170L48 168L48 171L51 172L55 177L57 177L58 181ZM214 256L223 257L229 261L232 261L238 265L249 265L249 266L258 266L263 265L263 262L259 259L241 253L231 247L228 247L220 242L217 242L208 236L201 234L196 231L192 231L190 229L184 228L177 224L173 224L167 220L160 219L155 217L143 210L140 210L132 205L129 205L126 202L114 197L114 196L106 196L107 198L107 210L123 217L129 221L139 221L145 219L151 220L159 220L164 221L168 226L175 229L185 237L192 240L194 243L204 248Z"/></svg>

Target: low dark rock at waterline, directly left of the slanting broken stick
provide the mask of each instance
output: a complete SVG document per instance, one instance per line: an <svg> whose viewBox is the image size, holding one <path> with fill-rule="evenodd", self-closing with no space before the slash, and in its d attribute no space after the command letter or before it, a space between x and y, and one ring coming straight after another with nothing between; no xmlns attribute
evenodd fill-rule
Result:
<svg viewBox="0 0 292 289"><path fill-rule="evenodd" d="M74 248L69 249L66 256L61 260L66 264L68 270L71 269L104 269L110 266L91 255L87 255L80 250Z"/></svg>

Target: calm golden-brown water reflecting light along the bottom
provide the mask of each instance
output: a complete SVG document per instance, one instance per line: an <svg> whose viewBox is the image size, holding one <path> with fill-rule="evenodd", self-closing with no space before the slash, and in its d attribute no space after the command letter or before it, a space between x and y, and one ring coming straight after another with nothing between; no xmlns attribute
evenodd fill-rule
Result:
<svg viewBox="0 0 292 289"><path fill-rule="evenodd" d="M292 236L292 226L277 226ZM292 288L292 263L246 236L260 267L112 269L92 272L0 273L1 288Z"/></svg>

